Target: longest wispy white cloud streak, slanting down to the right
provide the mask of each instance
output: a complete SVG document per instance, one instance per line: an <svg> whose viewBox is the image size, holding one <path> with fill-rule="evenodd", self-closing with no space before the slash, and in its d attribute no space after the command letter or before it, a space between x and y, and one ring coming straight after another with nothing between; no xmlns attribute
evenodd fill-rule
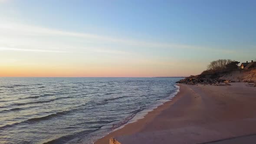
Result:
<svg viewBox="0 0 256 144"><path fill-rule="evenodd" d="M18 36L42 36L42 35L49 35L49 36L69 36L69 37L80 37L86 40L95 41L95 43L118 43L123 44L126 46L139 46L139 47L147 47L147 48L163 48L163 49L194 49L194 50L205 50L205 51L217 51L217 52L224 52L224 53L235 53L233 50L226 50L226 49L216 49L216 48L209 48L203 46L191 46L191 45L182 45L182 44L173 44L173 43L157 43L157 42L145 42L145 41L138 41L134 39L120 39L110 36L100 36L90 33L76 33L76 32L68 32L62 31L58 29L49 29L43 28L38 26L28 26L22 24L0 24L0 32L6 35L10 33L15 33ZM98 52L104 51L102 50L95 50Z"/></svg>

